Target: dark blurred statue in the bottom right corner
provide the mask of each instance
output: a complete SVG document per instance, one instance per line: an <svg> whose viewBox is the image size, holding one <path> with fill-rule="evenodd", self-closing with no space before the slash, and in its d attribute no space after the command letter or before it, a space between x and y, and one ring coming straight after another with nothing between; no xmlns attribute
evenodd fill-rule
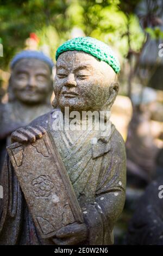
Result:
<svg viewBox="0 0 163 256"><path fill-rule="evenodd" d="M163 245L163 149L156 157L157 168L161 170L159 178L151 182L137 203L131 218L128 245Z"/></svg>

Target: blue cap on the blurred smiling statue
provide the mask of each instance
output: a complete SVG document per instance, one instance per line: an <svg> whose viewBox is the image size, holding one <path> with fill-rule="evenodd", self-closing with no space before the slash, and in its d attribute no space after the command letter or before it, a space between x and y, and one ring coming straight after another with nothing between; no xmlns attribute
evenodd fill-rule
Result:
<svg viewBox="0 0 163 256"><path fill-rule="evenodd" d="M16 56L11 60L11 63L10 63L11 69L14 67L16 62L18 62L18 60L20 59L39 59L47 63L49 65L49 68L51 69L54 66L53 61L48 56L46 56L43 52L25 50L20 53L17 53Z"/></svg>

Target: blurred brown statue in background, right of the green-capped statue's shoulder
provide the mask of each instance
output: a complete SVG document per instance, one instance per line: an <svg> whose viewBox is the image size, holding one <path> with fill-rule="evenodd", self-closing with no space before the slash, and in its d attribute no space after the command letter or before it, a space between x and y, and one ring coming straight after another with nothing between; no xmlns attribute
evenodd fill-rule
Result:
<svg viewBox="0 0 163 256"><path fill-rule="evenodd" d="M133 95L133 117L128 128L126 141L127 175L129 183L135 187L145 187L156 173L155 157L158 148L154 144L151 131L152 103L156 93L151 88Z"/></svg>

